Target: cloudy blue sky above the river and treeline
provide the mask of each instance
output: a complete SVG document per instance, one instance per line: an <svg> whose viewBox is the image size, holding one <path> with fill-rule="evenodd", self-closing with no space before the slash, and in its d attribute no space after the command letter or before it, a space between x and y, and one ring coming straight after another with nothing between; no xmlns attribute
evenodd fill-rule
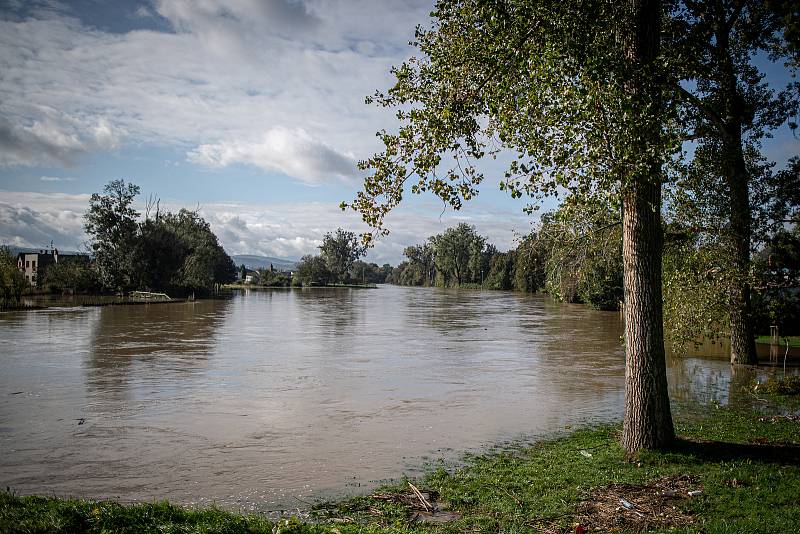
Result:
<svg viewBox="0 0 800 534"><path fill-rule="evenodd" d="M413 54L431 0L0 0L0 243L75 250L89 197L110 180L162 208L199 209L229 254L296 259L325 232L366 231L356 162L396 129L364 98ZM777 71L777 78L783 74ZM785 161L781 133L766 154ZM535 219L487 176L461 211L407 195L369 252L458 222L499 249ZM410 197L410 198L409 198Z"/></svg>

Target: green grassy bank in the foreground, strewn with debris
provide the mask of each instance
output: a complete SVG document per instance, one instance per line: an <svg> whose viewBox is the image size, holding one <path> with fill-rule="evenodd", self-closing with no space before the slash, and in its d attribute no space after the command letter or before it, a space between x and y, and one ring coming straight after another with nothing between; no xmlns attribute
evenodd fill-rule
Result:
<svg viewBox="0 0 800 534"><path fill-rule="evenodd" d="M619 447L618 431L583 429L472 456L458 469L318 505L302 522L3 493L0 531L728 533L800 525L800 418L683 411L673 450L633 459Z"/></svg>

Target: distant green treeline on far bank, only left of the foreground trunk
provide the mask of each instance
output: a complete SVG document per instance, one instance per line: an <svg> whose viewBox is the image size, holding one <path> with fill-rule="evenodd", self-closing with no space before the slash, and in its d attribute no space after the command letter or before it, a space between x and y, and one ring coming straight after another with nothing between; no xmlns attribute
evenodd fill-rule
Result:
<svg viewBox="0 0 800 534"><path fill-rule="evenodd" d="M517 248L500 252L466 223L407 247L389 282L410 286L543 291L566 302L612 310L622 300L619 225L610 214L565 221L546 214ZM585 236L597 231L592 239Z"/></svg>

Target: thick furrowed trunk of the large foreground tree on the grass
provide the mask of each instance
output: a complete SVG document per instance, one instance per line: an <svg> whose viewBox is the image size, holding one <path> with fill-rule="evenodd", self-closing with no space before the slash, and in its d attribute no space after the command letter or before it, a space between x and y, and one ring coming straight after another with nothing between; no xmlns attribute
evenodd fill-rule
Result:
<svg viewBox="0 0 800 534"><path fill-rule="evenodd" d="M675 431L667 393L661 295L661 165L650 140L660 131L653 109L660 89L643 82L637 71L659 54L661 2L628 0L633 26L621 27L625 54L632 63L626 87L634 102L632 139L649 172L627 177L623 197L622 254L625 286L625 419L622 445L628 452L669 445ZM646 79L646 78L644 78ZM647 103L655 106L647 111Z"/></svg>

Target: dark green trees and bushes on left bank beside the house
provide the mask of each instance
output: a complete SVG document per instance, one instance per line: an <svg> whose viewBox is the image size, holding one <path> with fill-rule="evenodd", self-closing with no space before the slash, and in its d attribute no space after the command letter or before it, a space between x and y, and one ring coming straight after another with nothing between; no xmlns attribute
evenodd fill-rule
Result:
<svg viewBox="0 0 800 534"><path fill-rule="evenodd" d="M150 199L144 217L132 204L140 189L113 180L95 193L84 215L89 256L48 265L37 273L36 290L45 293L124 294L131 291L172 295L208 294L236 279L236 267L198 212L162 211ZM85 260L85 261L84 261ZM32 289L7 247L0 248L0 306L20 305Z"/></svg>

